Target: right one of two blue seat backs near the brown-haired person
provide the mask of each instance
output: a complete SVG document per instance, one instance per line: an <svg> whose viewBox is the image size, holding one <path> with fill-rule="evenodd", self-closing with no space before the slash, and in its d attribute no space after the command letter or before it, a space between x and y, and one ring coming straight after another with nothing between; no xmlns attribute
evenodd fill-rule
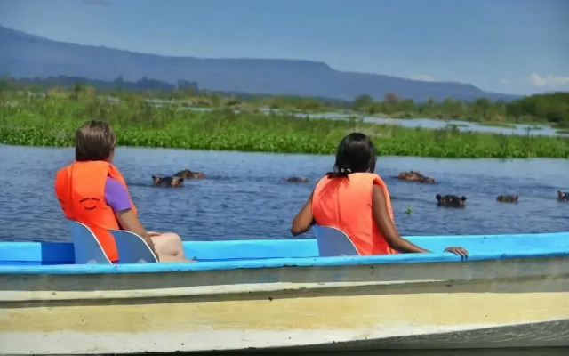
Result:
<svg viewBox="0 0 569 356"><path fill-rule="evenodd" d="M116 241L118 263L157 263L158 259L139 235L125 230L110 229Z"/></svg>

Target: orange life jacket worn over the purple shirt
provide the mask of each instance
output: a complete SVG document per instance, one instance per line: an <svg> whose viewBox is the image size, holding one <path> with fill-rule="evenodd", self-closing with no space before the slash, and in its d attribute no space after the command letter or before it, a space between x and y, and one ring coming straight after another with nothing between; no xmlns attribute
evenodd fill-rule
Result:
<svg viewBox="0 0 569 356"><path fill-rule="evenodd" d="M55 194L65 216L87 225L99 240L108 259L116 262L116 242L108 229L119 229L120 226L113 209L105 200L107 177L120 182L128 194L123 175L106 161L75 161L61 168L55 176ZM136 214L132 200L131 206Z"/></svg>

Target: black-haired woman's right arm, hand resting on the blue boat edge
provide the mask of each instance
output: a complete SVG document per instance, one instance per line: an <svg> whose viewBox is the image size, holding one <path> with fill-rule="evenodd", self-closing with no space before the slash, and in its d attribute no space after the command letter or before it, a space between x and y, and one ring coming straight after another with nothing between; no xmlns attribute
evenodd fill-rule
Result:
<svg viewBox="0 0 569 356"><path fill-rule="evenodd" d="M377 185L373 185L372 196L373 217L378 224L381 233L387 240L389 247L400 252L430 252L422 247L414 245L411 241L399 236L395 224L389 218L388 203L383 194L383 190ZM469 253L462 247L446 247L445 252L452 252L454 255L468 256Z"/></svg>

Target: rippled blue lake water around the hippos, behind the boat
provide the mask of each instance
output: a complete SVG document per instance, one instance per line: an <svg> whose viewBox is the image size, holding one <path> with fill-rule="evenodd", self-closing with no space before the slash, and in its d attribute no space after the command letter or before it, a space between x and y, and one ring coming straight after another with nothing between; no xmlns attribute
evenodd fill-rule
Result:
<svg viewBox="0 0 569 356"><path fill-rule="evenodd" d="M72 148L0 145L1 240L69 240L53 180L73 158ZM329 155L118 148L115 164L148 230L175 231L182 239L290 239L294 214L333 160ZM152 174L186 167L204 172L205 179L186 181L179 189L152 186ZM394 177L412 169L437 184ZM569 190L566 159L380 157L376 172L388 184L404 236L569 231L569 203L557 201L557 190ZM289 176L308 177L309 183L284 182ZM437 194L466 196L467 207L438 207ZM518 194L519 203L500 204L495 200L500 194ZM406 214L409 210L412 214Z"/></svg>

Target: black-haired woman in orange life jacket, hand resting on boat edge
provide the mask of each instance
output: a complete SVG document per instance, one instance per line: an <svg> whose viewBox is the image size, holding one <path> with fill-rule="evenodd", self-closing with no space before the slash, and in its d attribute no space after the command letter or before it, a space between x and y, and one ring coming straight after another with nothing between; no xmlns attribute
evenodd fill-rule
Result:
<svg viewBox="0 0 569 356"><path fill-rule="evenodd" d="M309 200L293 220L293 236L317 223L344 231L359 255L429 252L399 236L393 222L389 191L374 174L375 148L365 134L344 137L336 151L334 172L317 182ZM462 247L445 251L468 256Z"/></svg>

